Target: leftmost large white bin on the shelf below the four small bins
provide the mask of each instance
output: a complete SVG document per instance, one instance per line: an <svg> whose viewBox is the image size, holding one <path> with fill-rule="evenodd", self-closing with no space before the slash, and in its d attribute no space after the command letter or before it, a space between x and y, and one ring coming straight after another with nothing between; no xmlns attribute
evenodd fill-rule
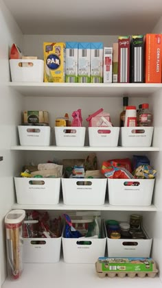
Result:
<svg viewBox="0 0 162 288"><path fill-rule="evenodd" d="M17 203L58 204L60 178L14 177Z"/></svg>

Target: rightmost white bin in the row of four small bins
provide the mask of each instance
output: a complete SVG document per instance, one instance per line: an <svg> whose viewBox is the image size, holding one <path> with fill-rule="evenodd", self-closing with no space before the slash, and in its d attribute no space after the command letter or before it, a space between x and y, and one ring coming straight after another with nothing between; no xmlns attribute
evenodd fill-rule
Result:
<svg viewBox="0 0 162 288"><path fill-rule="evenodd" d="M154 127L122 127L121 145L124 147L150 147Z"/></svg>

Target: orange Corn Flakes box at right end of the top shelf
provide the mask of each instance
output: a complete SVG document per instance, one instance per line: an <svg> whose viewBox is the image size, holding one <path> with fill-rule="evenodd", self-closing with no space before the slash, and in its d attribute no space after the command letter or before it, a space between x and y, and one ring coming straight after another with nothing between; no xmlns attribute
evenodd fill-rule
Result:
<svg viewBox="0 0 162 288"><path fill-rule="evenodd" d="M145 82L161 83L162 34L146 34Z"/></svg>

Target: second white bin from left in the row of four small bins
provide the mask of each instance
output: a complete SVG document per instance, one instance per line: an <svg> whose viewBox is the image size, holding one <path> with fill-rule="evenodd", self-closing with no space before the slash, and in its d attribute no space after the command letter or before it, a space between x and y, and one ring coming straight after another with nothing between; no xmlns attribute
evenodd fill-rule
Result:
<svg viewBox="0 0 162 288"><path fill-rule="evenodd" d="M55 127L56 146L82 147L85 133L85 127Z"/></svg>

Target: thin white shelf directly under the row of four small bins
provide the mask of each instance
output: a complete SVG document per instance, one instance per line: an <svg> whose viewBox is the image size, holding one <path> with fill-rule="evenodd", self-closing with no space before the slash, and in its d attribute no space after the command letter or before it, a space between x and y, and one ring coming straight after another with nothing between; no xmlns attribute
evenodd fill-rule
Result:
<svg viewBox="0 0 162 288"><path fill-rule="evenodd" d="M159 152L159 147L58 147L58 146L12 146L11 150L27 151L83 151L83 152Z"/></svg>

